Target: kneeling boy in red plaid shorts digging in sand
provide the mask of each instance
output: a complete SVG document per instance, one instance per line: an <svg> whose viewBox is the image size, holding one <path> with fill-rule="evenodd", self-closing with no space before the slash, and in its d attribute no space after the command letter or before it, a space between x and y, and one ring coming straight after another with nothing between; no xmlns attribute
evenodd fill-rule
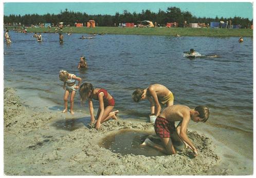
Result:
<svg viewBox="0 0 256 178"><path fill-rule="evenodd" d="M176 154L173 143L179 142L185 144L184 148L192 149L194 156L197 156L198 151L187 136L188 124L190 120L205 123L209 115L209 108L206 106L197 106L194 109L184 105L168 106L156 118L154 129L157 136L149 135L141 146L150 146L166 154ZM177 127L174 125L175 121L180 121ZM163 146L150 139L160 139Z"/></svg>

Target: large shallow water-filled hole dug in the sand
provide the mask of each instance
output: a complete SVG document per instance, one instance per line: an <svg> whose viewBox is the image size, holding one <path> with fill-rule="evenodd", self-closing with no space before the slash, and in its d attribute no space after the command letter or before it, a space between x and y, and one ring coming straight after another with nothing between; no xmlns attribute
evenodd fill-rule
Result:
<svg viewBox="0 0 256 178"><path fill-rule="evenodd" d="M109 134L99 144L101 147L111 150L114 153L135 154L145 156L161 156L166 155L154 148L145 146L140 147L140 144L150 133L136 131L133 129L121 129L120 131Z"/></svg>

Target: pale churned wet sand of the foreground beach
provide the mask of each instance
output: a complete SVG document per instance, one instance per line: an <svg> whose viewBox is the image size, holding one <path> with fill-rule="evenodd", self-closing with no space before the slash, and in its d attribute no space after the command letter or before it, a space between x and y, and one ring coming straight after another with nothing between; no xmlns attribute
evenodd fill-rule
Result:
<svg viewBox="0 0 256 178"><path fill-rule="evenodd" d="M68 118L70 117L70 118ZM71 119L71 120L70 120ZM87 125L88 116L25 107L12 88L4 90L4 172L6 175L226 175L211 171L221 159L213 141L196 131L188 136L198 148L175 155L114 153L100 147L105 136L123 128L149 132L152 123L111 120L102 131ZM67 128L68 121L80 122ZM65 126L65 124L67 124Z"/></svg>

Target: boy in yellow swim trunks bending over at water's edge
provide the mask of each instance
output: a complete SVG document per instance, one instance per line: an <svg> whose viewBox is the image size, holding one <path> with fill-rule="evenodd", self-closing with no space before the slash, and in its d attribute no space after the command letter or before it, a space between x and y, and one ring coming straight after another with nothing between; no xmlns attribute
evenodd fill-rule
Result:
<svg viewBox="0 0 256 178"><path fill-rule="evenodd" d="M174 102L173 93L165 86L160 84L150 85L145 89L136 89L132 94L133 101L139 103L141 100L150 101L151 115L158 116L161 111L161 105L172 106Z"/></svg>

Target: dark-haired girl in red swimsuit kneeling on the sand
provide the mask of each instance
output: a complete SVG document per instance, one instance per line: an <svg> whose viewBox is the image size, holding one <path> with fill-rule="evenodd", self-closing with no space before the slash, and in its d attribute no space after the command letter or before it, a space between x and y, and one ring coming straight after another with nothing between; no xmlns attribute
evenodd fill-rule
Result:
<svg viewBox="0 0 256 178"><path fill-rule="evenodd" d="M79 89L82 102L88 100L89 111L90 111L90 124L95 124L93 99L99 101L99 109L97 113L97 122L95 128L97 130L102 129L101 123L108 121L113 118L117 120L118 110L112 111L115 106L115 99L103 88L94 88L90 83L84 83Z"/></svg>

